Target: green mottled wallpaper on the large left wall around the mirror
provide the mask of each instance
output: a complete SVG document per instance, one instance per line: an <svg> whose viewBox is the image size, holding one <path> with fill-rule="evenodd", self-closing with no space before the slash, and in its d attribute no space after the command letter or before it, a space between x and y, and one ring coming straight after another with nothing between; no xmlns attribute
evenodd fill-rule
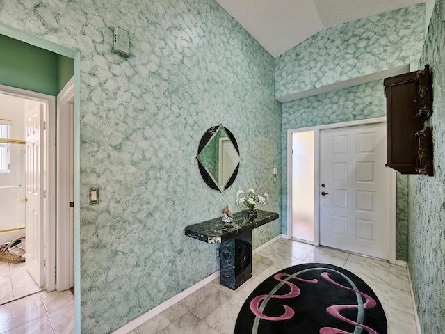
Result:
<svg viewBox="0 0 445 334"><path fill-rule="evenodd" d="M270 194L280 212L281 106L275 61L213 0L0 1L0 22L81 54L81 331L110 333L218 270L215 245L184 227L216 216L236 191ZM116 24L130 53L113 53ZM197 168L202 134L238 141L231 188ZM88 189L100 190L88 205ZM281 232L254 230L254 247Z"/></svg>

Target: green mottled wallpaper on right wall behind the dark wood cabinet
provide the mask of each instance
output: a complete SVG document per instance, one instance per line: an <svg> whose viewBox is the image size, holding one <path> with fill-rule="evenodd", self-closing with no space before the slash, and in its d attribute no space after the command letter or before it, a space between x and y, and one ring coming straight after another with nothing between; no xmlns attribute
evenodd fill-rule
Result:
<svg viewBox="0 0 445 334"><path fill-rule="evenodd" d="M434 176L409 177L409 257L422 333L445 333L445 1L432 13L420 67L430 64Z"/></svg>

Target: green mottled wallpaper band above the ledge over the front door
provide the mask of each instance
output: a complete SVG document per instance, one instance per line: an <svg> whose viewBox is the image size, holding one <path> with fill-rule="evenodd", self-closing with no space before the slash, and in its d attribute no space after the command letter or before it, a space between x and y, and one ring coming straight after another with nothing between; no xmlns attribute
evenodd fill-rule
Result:
<svg viewBox="0 0 445 334"><path fill-rule="evenodd" d="M316 33L277 58L275 96L417 63L424 17L421 3Z"/></svg>

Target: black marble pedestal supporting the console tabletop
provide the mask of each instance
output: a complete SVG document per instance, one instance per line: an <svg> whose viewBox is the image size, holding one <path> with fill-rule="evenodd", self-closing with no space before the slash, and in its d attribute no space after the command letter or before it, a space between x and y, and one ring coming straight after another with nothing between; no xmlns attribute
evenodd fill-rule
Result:
<svg viewBox="0 0 445 334"><path fill-rule="evenodd" d="M234 290L252 277L252 230L224 241L220 247L220 283Z"/></svg>

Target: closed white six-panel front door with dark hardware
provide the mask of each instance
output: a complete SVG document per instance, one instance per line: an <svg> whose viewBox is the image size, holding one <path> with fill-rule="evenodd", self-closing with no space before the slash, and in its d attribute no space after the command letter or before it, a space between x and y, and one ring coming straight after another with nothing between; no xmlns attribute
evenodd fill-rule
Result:
<svg viewBox="0 0 445 334"><path fill-rule="evenodd" d="M321 245L389 259L385 161L385 123L321 131Z"/></svg>

